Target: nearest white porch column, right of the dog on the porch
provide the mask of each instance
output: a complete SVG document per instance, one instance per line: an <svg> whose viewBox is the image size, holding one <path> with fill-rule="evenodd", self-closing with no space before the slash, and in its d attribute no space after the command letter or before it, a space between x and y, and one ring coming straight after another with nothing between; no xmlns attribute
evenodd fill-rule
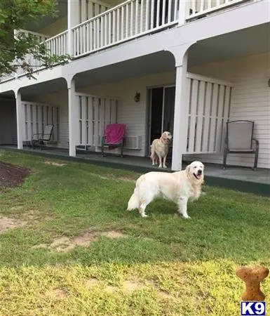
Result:
<svg viewBox="0 0 270 316"><path fill-rule="evenodd" d="M182 65L177 65L176 67L172 161L172 170L174 171L182 169L182 154L186 151L187 147L188 110L186 53L182 59Z"/></svg>

